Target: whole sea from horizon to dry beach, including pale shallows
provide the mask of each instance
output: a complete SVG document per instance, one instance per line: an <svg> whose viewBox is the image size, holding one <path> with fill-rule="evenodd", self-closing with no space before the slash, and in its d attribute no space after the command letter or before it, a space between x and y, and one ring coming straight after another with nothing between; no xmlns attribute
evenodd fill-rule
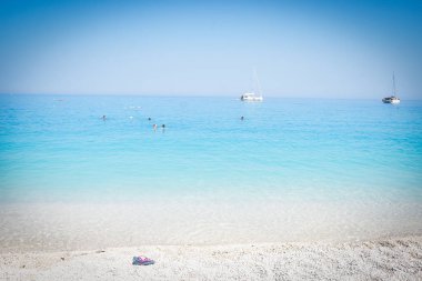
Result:
<svg viewBox="0 0 422 281"><path fill-rule="evenodd" d="M16 205L130 205L148 243L420 234L422 101L1 94L0 243Z"/></svg>

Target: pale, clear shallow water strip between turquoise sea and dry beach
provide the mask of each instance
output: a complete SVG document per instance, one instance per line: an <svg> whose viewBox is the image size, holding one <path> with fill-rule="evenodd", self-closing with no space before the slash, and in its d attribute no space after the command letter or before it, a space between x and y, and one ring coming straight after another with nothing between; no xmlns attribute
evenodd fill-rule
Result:
<svg viewBox="0 0 422 281"><path fill-rule="evenodd" d="M353 242L420 235L421 215L421 204L363 202L194 204L143 200L137 204L0 205L0 253L137 245Z"/></svg>

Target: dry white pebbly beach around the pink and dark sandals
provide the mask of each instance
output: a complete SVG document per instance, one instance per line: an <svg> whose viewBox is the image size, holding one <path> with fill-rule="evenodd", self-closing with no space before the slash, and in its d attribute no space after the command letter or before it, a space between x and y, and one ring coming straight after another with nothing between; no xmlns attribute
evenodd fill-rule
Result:
<svg viewBox="0 0 422 281"><path fill-rule="evenodd" d="M422 280L422 237L2 253L0 280Z"/></svg>

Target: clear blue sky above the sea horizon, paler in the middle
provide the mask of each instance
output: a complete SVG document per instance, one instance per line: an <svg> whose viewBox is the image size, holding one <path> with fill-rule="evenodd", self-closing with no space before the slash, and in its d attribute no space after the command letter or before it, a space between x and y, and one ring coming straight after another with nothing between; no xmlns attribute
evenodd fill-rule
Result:
<svg viewBox="0 0 422 281"><path fill-rule="evenodd" d="M422 1L0 0L0 92L422 99Z"/></svg>

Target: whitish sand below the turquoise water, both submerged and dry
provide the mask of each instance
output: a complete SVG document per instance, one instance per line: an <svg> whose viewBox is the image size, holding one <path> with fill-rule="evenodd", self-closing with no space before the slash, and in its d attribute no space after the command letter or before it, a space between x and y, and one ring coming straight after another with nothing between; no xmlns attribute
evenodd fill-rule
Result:
<svg viewBox="0 0 422 281"><path fill-rule="evenodd" d="M0 280L422 280L421 218L381 200L1 204Z"/></svg>

